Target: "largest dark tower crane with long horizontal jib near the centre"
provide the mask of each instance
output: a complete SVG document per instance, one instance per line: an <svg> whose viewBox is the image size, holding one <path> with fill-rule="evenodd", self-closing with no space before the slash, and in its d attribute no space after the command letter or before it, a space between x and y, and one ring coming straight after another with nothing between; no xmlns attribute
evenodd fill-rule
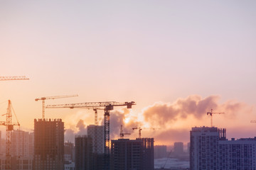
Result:
<svg viewBox="0 0 256 170"><path fill-rule="evenodd" d="M136 105L136 103L134 101L124 103L107 101L48 105L46 108L104 108L105 170L108 170L110 169L110 111L114 110L114 106L127 106L127 108L132 108L132 105Z"/></svg>

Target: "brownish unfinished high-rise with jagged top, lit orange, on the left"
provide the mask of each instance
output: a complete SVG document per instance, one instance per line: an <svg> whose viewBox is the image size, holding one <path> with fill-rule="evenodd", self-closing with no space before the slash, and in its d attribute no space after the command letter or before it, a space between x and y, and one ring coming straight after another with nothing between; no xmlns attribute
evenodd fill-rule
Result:
<svg viewBox="0 0 256 170"><path fill-rule="evenodd" d="M64 123L61 119L34 120L34 169L64 169Z"/></svg>

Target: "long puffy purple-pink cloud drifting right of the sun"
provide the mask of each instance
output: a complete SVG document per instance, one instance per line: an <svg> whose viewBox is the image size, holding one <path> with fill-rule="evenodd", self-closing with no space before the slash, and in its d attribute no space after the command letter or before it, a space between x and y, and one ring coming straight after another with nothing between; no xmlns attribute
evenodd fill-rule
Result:
<svg viewBox="0 0 256 170"><path fill-rule="evenodd" d="M246 107L245 103L237 101L227 101L218 103L219 96L208 96L202 98L198 95L179 98L174 103L154 103L153 106L144 108L144 120L151 125L165 126L175 123L178 120L185 120L192 115L196 120L201 120L210 109L213 111L225 112L225 114L235 114Z"/></svg>

